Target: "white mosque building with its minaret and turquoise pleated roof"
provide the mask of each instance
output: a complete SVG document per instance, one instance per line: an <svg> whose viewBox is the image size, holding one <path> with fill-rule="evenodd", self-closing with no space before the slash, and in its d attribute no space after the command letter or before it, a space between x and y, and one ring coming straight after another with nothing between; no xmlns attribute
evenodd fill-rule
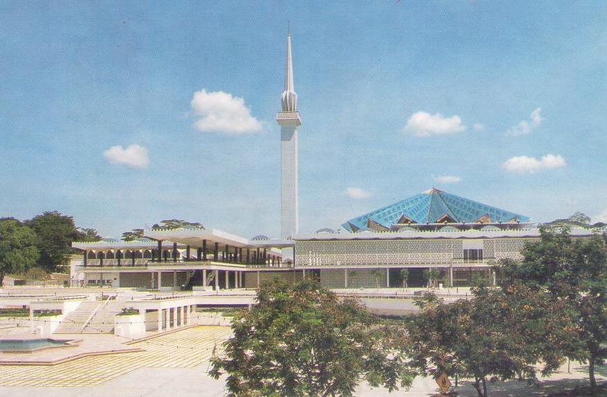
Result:
<svg viewBox="0 0 607 397"><path fill-rule="evenodd" d="M74 242L71 286L142 290L255 288L280 277L317 279L328 288L400 288L495 283L493 265L519 259L540 233L530 218L432 188L343 223L345 232L298 231L298 127L291 32L280 125L280 238L244 238L217 229L152 228L138 240ZM572 229L589 236L589 229ZM402 272L406 269L407 272ZM403 275L406 273L406 279Z"/></svg>

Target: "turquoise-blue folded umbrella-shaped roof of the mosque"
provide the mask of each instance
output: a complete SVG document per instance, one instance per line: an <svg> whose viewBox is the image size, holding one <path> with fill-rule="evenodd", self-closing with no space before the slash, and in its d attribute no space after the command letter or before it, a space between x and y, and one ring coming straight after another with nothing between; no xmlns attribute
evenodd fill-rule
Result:
<svg viewBox="0 0 607 397"><path fill-rule="evenodd" d="M424 193L357 216L348 220L342 226L348 231L357 231L369 227L371 220L383 227L390 228L392 224L400 223L399 220L403 217L413 223L435 223L444 220L448 222L476 222L483 217L489 217L489 220L484 220L485 223L509 222L511 220L527 222L530 219L525 215L432 188Z"/></svg>

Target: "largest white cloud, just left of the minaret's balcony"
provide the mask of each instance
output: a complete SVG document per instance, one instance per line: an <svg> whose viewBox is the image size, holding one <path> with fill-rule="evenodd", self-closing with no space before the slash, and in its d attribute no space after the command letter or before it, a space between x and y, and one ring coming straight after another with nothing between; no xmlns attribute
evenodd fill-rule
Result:
<svg viewBox="0 0 607 397"><path fill-rule="evenodd" d="M262 130L262 123L251 116L251 109L244 105L244 99L224 91L194 92L192 109L200 116L194 128L201 132L224 134L251 134Z"/></svg>

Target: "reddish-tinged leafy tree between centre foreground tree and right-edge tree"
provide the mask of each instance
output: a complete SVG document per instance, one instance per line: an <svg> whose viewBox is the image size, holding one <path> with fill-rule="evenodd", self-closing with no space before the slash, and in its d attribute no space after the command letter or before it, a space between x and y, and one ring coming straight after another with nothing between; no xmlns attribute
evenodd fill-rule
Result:
<svg viewBox="0 0 607 397"><path fill-rule="evenodd" d="M538 318L554 320L552 308L534 291L516 294L498 289L473 288L473 297L445 304L434 294L417 299L422 311L407 321L404 355L423 376L473 379L479 397L487 397L487 382L524 376L535 378L534 365L545 363L543 373L559 367L551 355L550 339Z"/></svg>

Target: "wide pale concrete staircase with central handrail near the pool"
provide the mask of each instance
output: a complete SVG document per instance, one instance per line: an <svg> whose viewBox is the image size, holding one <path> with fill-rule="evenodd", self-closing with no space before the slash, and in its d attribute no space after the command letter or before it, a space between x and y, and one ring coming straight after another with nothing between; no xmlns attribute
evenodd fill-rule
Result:
<svg viewBox="0 0 607 397"><path fill-rule="evenodd" d="M60 322L55 333L113 333L114 317L125 308L120 301L84 301Z"/></svg>

